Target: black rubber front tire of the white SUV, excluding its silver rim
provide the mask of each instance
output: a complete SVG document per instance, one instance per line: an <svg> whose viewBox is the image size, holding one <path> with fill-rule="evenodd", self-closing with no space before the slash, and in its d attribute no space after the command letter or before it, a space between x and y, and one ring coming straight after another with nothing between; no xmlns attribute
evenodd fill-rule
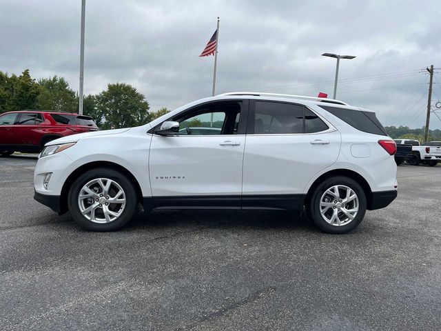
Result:
<svg viewBox="0 0 441 331"><path fill-rule="evenodd" d="M121 185L121 188L123 188L125 192L126 202L123 214L121 214L118 219L110 223L94 223L89 221L83 216L83 214L81 214L81 211L79 210L78 195L81 188L83 188L85 183L88 183L96 178L112 179ZM88 170L82 174L78 179L76 179L76 181L74 181L74 183L72 183L72 187L70 188L68 194L69 210L74 218L74 221L76 221L76 223L78 223L81 227L91 231L114 231L122 228L127 222L130 221L130 219L132 219L136 210L137 200L136 191L134 190L132 181L130 181L125 174L106 168L96 168Z"/></svg>

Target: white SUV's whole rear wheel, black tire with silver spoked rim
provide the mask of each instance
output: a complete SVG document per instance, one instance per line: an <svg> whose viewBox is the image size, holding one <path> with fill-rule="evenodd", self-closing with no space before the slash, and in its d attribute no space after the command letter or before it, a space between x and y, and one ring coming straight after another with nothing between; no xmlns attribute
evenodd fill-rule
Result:
<svg viewBox="0 0 441 331"><path fill-rule="evenodd" d="M307 212L318 228L329 233L347 233L360 224L367 208L361 185L349 177L323 181L311 196Z"/></svg>

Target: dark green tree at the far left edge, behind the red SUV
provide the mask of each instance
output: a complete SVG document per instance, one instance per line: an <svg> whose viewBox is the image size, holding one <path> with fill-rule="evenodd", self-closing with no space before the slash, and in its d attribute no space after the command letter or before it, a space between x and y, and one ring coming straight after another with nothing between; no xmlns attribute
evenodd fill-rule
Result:
<svg viewBox="0 0 441 331"><path fill-rule="evenodd" d="M0 112L35 109L39 94L39 85L30 77L29 69L19 77L0 72Z"/></svg>

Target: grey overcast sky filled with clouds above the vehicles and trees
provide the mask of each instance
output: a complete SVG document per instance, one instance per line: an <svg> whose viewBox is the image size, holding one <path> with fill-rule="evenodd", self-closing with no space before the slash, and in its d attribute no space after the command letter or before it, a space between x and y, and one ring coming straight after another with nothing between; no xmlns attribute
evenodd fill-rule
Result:
<svg viewBox="0 0 441 331"><path fill-rule="evenodd" d="M57 74L78 90L80 14L81 0L0 0L0 70ZM214 57L198 55L218 16L216 92L331 97L336 60L320 54L351 54L337 99L375 110L384 125L424 125L424 68L441 68L439 0L86 0L85 93L131 83L152 110L210 96Z"/></svg>

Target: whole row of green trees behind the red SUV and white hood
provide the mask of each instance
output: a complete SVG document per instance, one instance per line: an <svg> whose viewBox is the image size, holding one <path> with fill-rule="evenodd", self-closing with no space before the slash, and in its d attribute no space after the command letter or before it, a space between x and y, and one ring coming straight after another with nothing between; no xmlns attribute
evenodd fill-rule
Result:
<svg viewBox="0 0 441 331"><path fill-rule="evenodd" d="M78 109L78 93L63 77L34 79L28 69L19 76L0 71L0 114L12 110L78 112ZM127 83L110 83L101 93L88 94L83 101L83 114L92 117L104 130L141 126L168 111L167 108L150 111L144 94Z"/></svg>

